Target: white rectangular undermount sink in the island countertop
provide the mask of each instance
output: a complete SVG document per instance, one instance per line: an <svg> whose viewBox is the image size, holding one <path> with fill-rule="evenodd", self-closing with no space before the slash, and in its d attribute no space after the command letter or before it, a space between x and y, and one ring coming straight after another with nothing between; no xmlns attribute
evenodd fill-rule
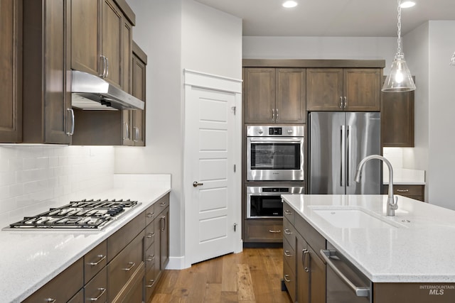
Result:
<svg viewBox="0 0 455 303"><path fill-rule="evenodd" d="M314 209L328 224L337 228L393 228L402 227L393 221L386 221L360 209Z"/></svg>

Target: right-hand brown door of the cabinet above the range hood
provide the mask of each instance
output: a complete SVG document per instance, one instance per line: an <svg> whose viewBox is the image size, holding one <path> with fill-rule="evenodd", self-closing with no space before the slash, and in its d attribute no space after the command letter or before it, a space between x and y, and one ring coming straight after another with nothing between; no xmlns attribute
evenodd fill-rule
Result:
<svg viewBox="0 0 455 303"><path fill-rule="evenodd" d="M112 0L102 1L101 54L107 60L107 79L122 87L122 33L124 22L122 11Z"/></svg>

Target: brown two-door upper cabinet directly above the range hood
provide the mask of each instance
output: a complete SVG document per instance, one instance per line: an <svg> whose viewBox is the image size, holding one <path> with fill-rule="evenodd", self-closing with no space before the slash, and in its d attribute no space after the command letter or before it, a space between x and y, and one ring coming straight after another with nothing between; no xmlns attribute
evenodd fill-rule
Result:
<svg viewBox="0 0 455 303"><path fill-rule="evenodd" d="M68 2L71 68L98 75L129 92L134 13L125 1Z"/></svg>

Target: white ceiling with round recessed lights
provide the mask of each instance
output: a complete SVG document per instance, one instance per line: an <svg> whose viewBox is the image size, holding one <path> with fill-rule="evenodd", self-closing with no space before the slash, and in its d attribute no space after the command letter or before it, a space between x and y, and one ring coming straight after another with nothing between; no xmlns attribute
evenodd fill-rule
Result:
<svg viewBox="0 0 455 303"><path fill-rule="evenodd" d="M396 0L196 0L242 18L243 35L257 36L397 36ZM455 0L414 0L402 9L402 35L429 20L455 20ZM454 33L455 35L455 33Z"/></svg>

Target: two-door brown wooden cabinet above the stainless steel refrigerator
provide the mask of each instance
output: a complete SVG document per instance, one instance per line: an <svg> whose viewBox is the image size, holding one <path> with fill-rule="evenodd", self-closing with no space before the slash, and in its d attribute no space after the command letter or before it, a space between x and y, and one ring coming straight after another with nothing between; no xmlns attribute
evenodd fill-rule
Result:
<svg viewBox="0 0 455 303"><path fill-rule="evenodd" d="M308 111L380 111L379 68L306 69Z"/></svg>

